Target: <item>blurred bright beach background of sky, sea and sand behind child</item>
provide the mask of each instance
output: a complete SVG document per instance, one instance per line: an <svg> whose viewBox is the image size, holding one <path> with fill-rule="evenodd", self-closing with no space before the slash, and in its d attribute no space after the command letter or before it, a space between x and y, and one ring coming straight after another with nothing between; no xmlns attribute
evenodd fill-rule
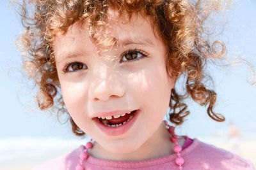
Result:
<svg viewBox="0 0 256 170"><path fill-rule="evenodd" d="M241 57L256 68L256 1L232 1L229 10L216 16L220 28L216 39L227 45L227 58ZM214 18L214 16L213 16ZM7 0L0 1L0 169L31 169L70 152L86 139L60 124L56 114L36 108L33 83L22 78L20 52L15 39L22 32L19 16ZM216 27L218 29L218 27ZM207 66L218 94L215 111L225 122L211 120L204 107L186 101L191 114L177 134L198 138L251 160L256 167L256 84L245 64ZM179 82L178 82L179 83ZM61 121L64 122L65 118Z"/></svg>

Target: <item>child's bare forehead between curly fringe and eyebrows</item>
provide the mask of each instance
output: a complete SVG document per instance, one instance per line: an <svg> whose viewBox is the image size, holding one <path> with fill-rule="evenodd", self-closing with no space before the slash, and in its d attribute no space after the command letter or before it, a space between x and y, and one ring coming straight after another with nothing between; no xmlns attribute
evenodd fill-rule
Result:
<svg viewBox="0 0 256 170"><path fill-rule="evenodd" d="M68 28L64 35L54 38L53 45L58 61L58 56L79 50L97 50L99 46L92 41L92 32L88 22L76 22ZM103 46L113 43L115 46L125 46L134 42L141 45L156 45L161 43L158 34L154 31L152 21L142 15L119 16L115 11L109 10L106 25L93 29L94 36L102 41Z"/></svg>

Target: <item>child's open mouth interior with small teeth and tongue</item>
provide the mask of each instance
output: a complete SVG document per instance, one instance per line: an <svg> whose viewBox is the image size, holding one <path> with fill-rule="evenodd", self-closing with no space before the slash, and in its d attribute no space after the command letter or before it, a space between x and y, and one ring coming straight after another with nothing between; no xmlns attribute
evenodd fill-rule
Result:
<svg viewBox="0 0 256 170"><path fill-rule="evenodd" d="M108 127L119 127L129 122L134 117L136 110L109 117L98 117L101 124Z"/></svg>

